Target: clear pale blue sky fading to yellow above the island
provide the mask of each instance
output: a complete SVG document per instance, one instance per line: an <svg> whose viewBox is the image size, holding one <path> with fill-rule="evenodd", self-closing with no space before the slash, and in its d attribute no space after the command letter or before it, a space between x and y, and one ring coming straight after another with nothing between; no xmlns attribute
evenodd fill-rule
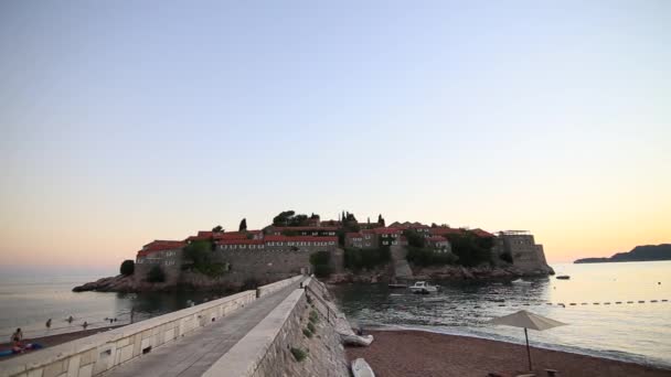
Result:
<svg viewBox="0 0 671 377"><path fill-rule="evenodd" d="M2 1L0 267L286 209L671 243L669 1Z"/></svg>

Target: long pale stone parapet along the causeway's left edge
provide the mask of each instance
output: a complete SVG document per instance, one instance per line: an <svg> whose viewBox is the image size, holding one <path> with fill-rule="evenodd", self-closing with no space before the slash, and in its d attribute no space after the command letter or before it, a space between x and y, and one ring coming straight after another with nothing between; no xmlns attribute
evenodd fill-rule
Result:
<svg viewBox="0 0 671 377"><path fill-rule="evenodd" d="M205 326L254 300L256 291L244 291L19 356L0 363L0 377L96 376Z"/></svg>

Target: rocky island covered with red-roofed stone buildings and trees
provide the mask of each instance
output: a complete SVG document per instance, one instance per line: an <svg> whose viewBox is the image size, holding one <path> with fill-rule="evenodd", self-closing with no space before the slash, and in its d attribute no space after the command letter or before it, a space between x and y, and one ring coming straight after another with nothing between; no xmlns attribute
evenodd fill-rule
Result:
<svg viewBox="0 0 671 377"><path fill-rule="evenodd" d="M286 211L263 229L221 226L182 240L153 240L120 274L74 291L139 292L254 288L313 272L330 283L409 279L510 279L547 276L543 246L529 231L489 233L422 223L337 220Z"/></svg>

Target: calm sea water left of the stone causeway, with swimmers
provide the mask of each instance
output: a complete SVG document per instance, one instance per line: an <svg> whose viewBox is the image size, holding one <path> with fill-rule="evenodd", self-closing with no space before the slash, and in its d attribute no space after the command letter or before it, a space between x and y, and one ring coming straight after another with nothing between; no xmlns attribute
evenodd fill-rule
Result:
<svg viewBox="0 0 671 377"><path fill-rule="evenodd" d="M0 343L10 341L11 333L21 327L25 337L62 334L109 325L105 317L116 317L115 324L141 321L184 309L192 300L201 303L214 299L211 292L174 293L105 293L72 292L73 287L98 279L99 276L12 276L0 277ZM223 294L221 294L223 295ZM72 315L72 324L65 320ZM46 328L46 320L52 326Z"/></svg>

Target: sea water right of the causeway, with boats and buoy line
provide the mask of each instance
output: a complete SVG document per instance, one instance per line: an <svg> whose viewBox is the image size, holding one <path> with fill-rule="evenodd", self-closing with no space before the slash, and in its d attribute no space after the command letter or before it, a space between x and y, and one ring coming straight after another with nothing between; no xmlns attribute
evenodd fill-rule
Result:
<svg viewBox="0 0 671 377"><path fill-rule="evenodd" d="M441 290L430 295L390 290L385 284L350 284L334 288L334 294L345 314L364 326L422 328L520 344L521 328L486 322L524 309L569 324L530 331L535 346L671 368L671 302L662 302L671 301L671 261L553 268L571 280L436 281Z"/></svg>

